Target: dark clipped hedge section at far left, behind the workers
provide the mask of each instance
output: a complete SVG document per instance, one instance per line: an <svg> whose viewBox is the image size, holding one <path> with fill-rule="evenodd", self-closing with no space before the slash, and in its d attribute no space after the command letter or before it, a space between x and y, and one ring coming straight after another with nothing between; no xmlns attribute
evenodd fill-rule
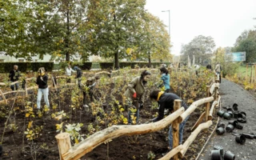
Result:
<svg viewBox="0 0 256 160"><path fill-rule="evenodd" d="M38 68L45 67L46 71L51 71L54 68L54 62L1 62L0 72L9 73L14 69L14 65L18 65L18 70L26 72L27 70L38 71Z"/></svg>

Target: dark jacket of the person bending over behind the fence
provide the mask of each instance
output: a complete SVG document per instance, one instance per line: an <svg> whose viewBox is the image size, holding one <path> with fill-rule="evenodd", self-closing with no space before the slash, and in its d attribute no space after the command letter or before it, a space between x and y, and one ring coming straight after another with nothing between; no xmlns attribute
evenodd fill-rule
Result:
<svg viewBox="0 0 256 160"><path fill-rule="evenodd" d="M162 94L159 92L159 94ZM181 99L178 97L178 95L173 94L173 93L163 93L160 95L160 98L158 99L158 117L153 119L153 122L160 121L165 114L165 109L169 109L170 112L174 111L174 100L175 99ZM186 103L182 101L182 106L186 110L188 106L186 106Z"/></svg>

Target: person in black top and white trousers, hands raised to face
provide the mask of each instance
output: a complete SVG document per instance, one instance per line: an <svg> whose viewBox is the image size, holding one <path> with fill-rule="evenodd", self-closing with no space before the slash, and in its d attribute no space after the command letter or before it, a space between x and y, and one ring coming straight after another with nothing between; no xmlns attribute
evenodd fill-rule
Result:
<svg viewBox="0 0 256 160"><path fill-rule="evenodd" d="M37 100L37 109L38 110L40 110L40 108L41 108L42 94L43 94L43 98L46 102L46 106L50 107L50 103L49 103L49 99L48 99L49 89L48 89L47 81L48 81L48 76L46 75L45 68L44 67L39 68L38 78L36 80L36 83L38 84L38 100Z"/></svg>

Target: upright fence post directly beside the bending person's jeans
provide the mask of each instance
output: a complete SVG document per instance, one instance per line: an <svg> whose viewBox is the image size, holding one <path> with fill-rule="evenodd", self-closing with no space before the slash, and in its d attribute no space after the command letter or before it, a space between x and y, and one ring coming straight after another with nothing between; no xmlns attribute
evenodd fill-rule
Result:
<svg viewBox="0 0 256 160"><path fill-rule="evenodd" d="M174 112L178 110L182 106L182 100L175 99L174 100ZM179 138L178 138L178 132L179 132L179 122L178 118L174 120L172 123L172 130L173 130L173 148L178 146ZM178 159L178 154L174 155L174 160Z"/></svg>

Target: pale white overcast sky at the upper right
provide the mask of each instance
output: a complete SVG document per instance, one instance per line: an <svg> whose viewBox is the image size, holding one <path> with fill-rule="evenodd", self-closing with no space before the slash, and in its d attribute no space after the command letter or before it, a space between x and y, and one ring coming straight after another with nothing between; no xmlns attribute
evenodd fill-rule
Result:
<svg viewBox="0 0 256 160"><path fill-rule="evenodd" d="M214 38L215 49L234 46L244 30L256 30L256 0L146 0L145 10L169 30L171 54L198 35Z"/></svg>

